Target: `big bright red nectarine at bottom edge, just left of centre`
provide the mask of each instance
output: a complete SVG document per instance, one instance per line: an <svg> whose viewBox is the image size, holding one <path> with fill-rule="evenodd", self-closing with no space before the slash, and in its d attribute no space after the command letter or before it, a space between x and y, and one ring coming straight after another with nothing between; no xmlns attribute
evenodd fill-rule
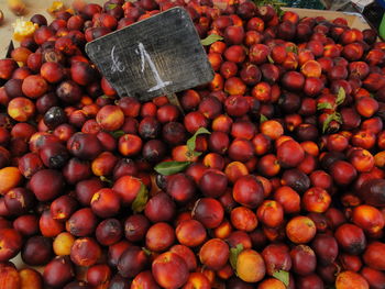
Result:
<svg viewBox="0 0 385 289"><path fill-rule="evenodd" d="M164 288L179 288L188 280L188 268L177 254L166 252L152 263L154 279Z"/></svg>

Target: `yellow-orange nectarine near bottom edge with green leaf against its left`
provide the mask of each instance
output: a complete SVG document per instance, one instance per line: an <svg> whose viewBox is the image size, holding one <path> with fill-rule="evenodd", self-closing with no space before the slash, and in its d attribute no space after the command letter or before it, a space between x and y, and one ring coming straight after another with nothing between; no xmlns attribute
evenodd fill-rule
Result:
<svg viewBox="0 0 385 289"><path fill-rule="evenodd" d="M256 251L244 249L238 255L237 274L241 280L257 282L263 279L265 273L265 263Z"/></svg>

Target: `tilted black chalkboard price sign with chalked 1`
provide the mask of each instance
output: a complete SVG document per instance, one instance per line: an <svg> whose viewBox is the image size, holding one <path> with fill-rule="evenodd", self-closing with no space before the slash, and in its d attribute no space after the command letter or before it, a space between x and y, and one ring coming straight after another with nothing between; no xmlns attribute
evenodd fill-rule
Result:
<svg viewBox="0 0 385 289"><path fill-rule="evenodd" d="M120 97L141 101L212 80L213 71L194 23L173 8L86 45Z"/></svg>

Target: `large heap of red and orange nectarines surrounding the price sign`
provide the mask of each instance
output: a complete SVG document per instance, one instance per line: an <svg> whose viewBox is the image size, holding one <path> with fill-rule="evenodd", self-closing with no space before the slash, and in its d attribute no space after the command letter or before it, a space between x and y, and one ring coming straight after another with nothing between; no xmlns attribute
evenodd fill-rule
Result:
<svg viewBox="0 0 385 289"><path fill-rule="evenodd" d="M182 110L120 98L85 44L176 5L212 81ZM375 31L210 0L24 24L0 59L0 289L385 288Z"/></svg>

